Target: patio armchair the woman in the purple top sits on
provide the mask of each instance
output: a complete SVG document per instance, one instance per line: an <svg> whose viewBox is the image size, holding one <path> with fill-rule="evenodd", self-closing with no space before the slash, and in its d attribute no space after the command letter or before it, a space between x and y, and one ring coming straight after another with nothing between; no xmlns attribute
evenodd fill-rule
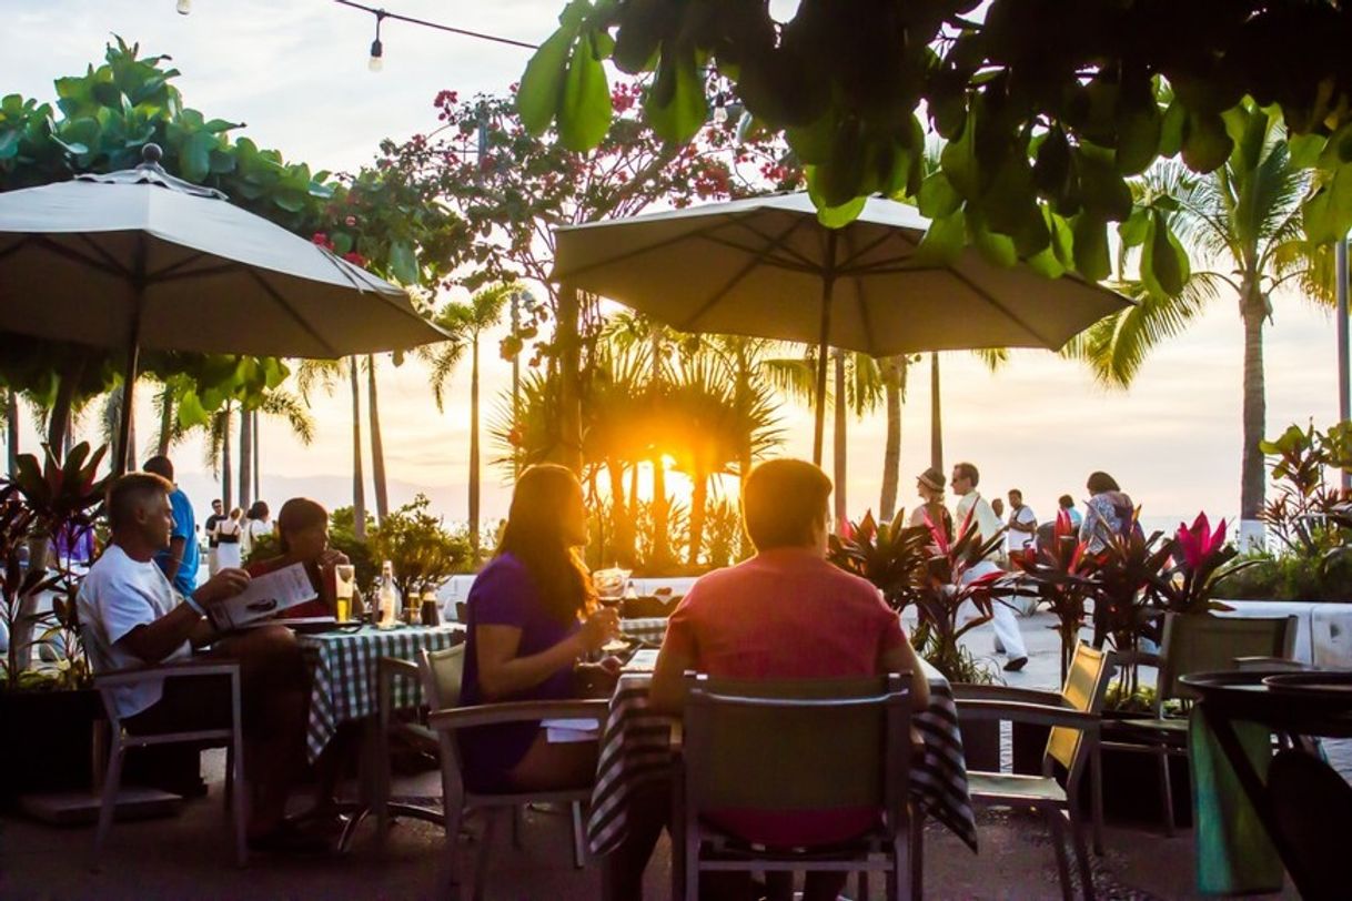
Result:
<svg viewBox="0 0 1352 901"><path fill-rule="evenodd" d="M484 832L479 847L479 866L475 873L473 898L479 901L487 885L489 850L498 828L499 815L511 815L512 842L519 847L519 810L527 804L558 804L569 808L572 815L573 866L585 865L587 848L583 829L583 804L591 798L591 786L579 786L556 792L522 793L480 793L465 788L464 763L454 732L475 725L492 725L544 719L594 719L604 724L608 712L607 701L516 701L507 704L483 704L458 706L461 679L464 674L465 644L457 644L441 651L423 651L418 662L383 658L380 661L380 716L383 733L393 728L392 684L395 678L416 678L422 684L423 697L429 706L427 723L402 724L402 728L415 742L433 751L441 762L442 808L414 808L412 805L389 805L388 756L381 758L380 797L377 808L380 832L385 833L387 810L404 816L439 823L446 829L446 860L442 869L443 887L460 883L460 862L456 842L466 813L481 810L485 815Z"/></svg>

